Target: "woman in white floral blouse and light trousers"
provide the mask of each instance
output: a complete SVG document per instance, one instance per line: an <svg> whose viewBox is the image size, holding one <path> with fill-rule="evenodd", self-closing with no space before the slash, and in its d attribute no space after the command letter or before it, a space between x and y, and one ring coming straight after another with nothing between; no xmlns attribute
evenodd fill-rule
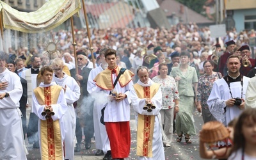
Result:
<svg viewBox="0 0 256 160"><path fill-rule="evenodd" d="M164 146L170 147L173 134L173 109L175 109L176 113L179 111L179 92L173 77L167 75L168 66L166 65L166 63L161 63L158 69L160 75L154 77L152 81L161 84L163 101L160 113L164 133L167 137L167 140L164 141Z"/></svg>

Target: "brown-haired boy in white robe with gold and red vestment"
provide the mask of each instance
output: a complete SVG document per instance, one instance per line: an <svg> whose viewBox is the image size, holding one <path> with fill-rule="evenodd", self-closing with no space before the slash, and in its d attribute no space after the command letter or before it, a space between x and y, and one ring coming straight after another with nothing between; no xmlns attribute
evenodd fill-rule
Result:
<svg viewBox="0 0 256 160"><path fill-rule="evenodd" d="M43 83L33 92L34 113L38 121L38 138L40 142L41 159L64 159L63 139L65 137L62 116L67 111L65 91L61 86L52 83L53 70L49 66L41 68ZM54 115L42 113L47 109Z"/></svg>

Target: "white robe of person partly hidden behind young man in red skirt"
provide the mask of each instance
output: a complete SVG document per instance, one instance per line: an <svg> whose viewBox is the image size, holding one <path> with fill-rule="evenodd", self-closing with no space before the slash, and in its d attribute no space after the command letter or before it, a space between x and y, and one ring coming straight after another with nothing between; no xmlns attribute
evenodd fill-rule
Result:
<svg viewBox="0 0 256 160"><path fill-rule="evenodd" d="M106 104L107 100L104 99L104 92L95 92L97 86L93 79L103 71L103 68L101 66L93 68L88 76L88 83L87 83L87 90L90 93L90 95L95 99L94 105L93 105L93 126L94 126L94 135L95 135L95 148L99 150L103 150L104 152L107 152L110 150L110 143L108 139L108 134L106 132L105 125L100 123L100 117L101 117L101 109L104 107L104 104ZM103 94L103 97L100 97L100 95ZM102 100L98 100L102 99Z"/></svg>

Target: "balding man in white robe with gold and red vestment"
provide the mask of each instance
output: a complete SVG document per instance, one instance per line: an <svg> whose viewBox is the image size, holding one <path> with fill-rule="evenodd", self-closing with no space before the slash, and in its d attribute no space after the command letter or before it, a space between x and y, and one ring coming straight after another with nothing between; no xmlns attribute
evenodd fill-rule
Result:
<svg viewBox="0 0 256 160"><path fill-rule="evenodd" d="M162 92L160 85L148 78L148 68L137 69L138 83L131 89L132 107L136 114L137 156L139 159L164 160L161 132ZM151 105L151 106L150 106Z"/></svg>

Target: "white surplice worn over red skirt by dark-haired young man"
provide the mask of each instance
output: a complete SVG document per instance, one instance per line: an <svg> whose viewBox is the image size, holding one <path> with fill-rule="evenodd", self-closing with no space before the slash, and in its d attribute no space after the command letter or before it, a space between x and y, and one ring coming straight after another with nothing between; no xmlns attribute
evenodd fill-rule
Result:
<svg viewBox="0 0 256 160"><path fill-rule="evenodd" d="M112 83L114 84L116 79L116 74L112 74ZM130 81L126 86L121 87L120 83L116 83L115 90L117 93L124 93L127 95L127 99L121 100L120 102L116 102L113 100L112 102L109 100L108 105L106 106L104 112L104 122L127 122L130 121L130 90L132 88L132 81ZM102 91L102 88L97 86L96 92ZM108 99L110 91L104 90L104 94L102 94L102 99Z"/></svg>

